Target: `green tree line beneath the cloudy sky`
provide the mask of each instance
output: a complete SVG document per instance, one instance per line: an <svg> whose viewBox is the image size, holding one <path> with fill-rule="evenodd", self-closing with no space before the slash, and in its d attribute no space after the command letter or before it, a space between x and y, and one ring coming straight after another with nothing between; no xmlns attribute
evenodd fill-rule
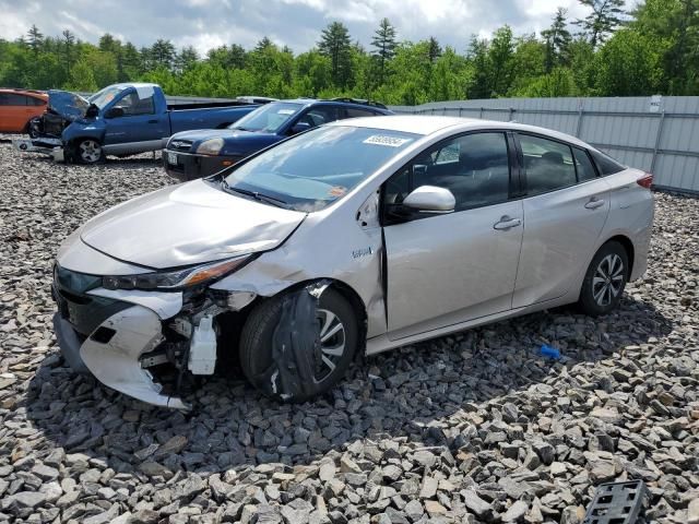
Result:
<svg viewBox="0 0 699 524"><path fill-rule="evenodd" d="M558 9L540 34L514 35L505 25L489 38L465 39L465 52L428 37L400 39L389 20L368 48L332 22L300 53L263 37L237 44L176 49L157 39L137 48L109 34L96 45L70 31L45 36L36 26L14 41L0 39L0 85L97 91L116 82L161 84L171 95L353 96L416 105L508 96L699 95L699 0L579 0L589 15Z"/></svg>

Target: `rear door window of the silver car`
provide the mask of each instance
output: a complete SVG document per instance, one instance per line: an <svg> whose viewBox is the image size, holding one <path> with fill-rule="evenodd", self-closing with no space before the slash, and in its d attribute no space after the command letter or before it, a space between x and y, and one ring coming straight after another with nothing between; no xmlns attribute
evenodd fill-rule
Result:
<svg viewBox="0 0 699 524"><path fill-rule="evenodd" d="M528 134L520 134L519 139L530 196L576 184L576 167L568 145Z"/></svg>

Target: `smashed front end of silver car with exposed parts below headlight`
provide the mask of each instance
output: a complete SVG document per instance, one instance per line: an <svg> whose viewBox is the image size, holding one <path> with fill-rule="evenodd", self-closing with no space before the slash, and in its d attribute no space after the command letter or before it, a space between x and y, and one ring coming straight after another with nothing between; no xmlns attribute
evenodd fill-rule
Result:
<svg viewBox="0 0 699 524"><path fill-rule="evenodd" d="M206 284L171 291L123 288L135 278L57 265L54 327L61 352L73 370L121 393L188 409L182 396L192 378L214 373L220 347L228 347L230 327L239 321L236 315L256 295L222 293Z"/></svg>

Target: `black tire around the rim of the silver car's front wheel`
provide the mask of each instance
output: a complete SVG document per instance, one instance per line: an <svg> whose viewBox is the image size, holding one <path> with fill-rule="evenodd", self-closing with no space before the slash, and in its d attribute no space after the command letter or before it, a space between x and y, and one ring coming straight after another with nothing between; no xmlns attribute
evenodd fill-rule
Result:
<svg viewBox="0 0 699 524"><path fill-rule="evenodd" d="M281 388L279 384L277 391L273 391L270 377L274 374L273 370L277 367L272 353L273 338L282 317L284 300L291 296L294 296L294 294L281 295L265 300L250 312L240 335L240 367L250 383L265 395L276 400L303 402L325 393L345 376L357 348L358 325L357 317L352 306L337 291L327 288L320 296L318 303L320 327L322 332L324 320L328 319L323 311L330 311L336 315L342 324L343 329L341 331L344 335L342 355L313 355L311 360L317 365L313 370L315 380L306 384L306 391L279 391ZM334 326L335 324L332 325ZM332 331L333 326L328 331ZM337 340L333 341L333 337ZM332 335L332 337L328 338L328 344L339 343L339 340L340 335ZM334 348L331 347L330 349ZM334 369L331 369L322 361L323 356L331 360ZM324 368L328 368L327 374L321 371Z"/></svg>

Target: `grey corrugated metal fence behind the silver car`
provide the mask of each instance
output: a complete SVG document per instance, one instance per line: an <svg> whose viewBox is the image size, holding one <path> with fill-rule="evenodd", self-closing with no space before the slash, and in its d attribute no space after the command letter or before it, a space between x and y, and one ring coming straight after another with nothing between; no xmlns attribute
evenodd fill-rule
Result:
<svg viewBox="0 0 699 524"><path fill-rule="evenodd" d="M497 98L393 106L395 112L514 120L572 134L655 186L699 193L699 96Z"/></svg>

